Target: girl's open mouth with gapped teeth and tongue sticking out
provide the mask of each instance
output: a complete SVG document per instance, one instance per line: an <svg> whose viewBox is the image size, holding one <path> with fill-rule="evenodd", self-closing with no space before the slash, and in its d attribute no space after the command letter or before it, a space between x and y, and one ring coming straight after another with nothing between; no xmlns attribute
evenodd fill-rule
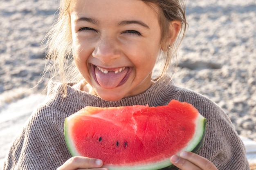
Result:
<svg viewBox="0 0 256 170"><path fill-rule="evenodd" d="M92 76L101 87L106 89L116 88L124 84L130 76L131 67L101 68L90 64Z"/></svg>

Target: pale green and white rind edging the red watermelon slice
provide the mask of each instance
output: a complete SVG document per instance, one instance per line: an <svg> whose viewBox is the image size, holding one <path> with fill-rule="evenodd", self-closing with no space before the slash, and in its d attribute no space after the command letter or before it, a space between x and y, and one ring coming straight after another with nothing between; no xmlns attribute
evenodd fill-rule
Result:
<svg viewBox="0 0 256 170"><path fill-rule="evenodd" d="M70 118L71 117L65 119L65 126L64 126L65 141L70 151L70 154L72 156L81 156L79 152L77 152L76 149L73 147L75 145L72 139L67 137L69 136L68 135L69 128L71 129L71 126L72 126L71 124L67 123L68 122L67 119L70 119ZM189 142L189 145L184 147L180 152L191 151L194 153L198 153L204 144L205 137L206 137L206 129L207 129L207 120L202 115L199 115L196 120L196 129L195 129L195 134L193 138ZM180 152L178 152L177 155L179 155ZM108 168L108 170L177 170L178 169L171 163L170 158L167 158L164 161L159 161L158 163L138 165L136 167L129 166L129 165L128 166L122 165L121 167L106 166L106 168Z"/></svg>

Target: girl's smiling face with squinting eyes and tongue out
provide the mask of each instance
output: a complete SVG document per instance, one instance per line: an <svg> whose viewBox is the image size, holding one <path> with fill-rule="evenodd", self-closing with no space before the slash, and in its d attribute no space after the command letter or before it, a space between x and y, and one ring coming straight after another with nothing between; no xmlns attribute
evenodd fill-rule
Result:
<svg viewBox="0 0 256 170"><path fill-rule="evenodd" d="M116 101L149 88L161 50L156 11L141 0L76 0L70 15L74 61L90 93Z"/></svg>

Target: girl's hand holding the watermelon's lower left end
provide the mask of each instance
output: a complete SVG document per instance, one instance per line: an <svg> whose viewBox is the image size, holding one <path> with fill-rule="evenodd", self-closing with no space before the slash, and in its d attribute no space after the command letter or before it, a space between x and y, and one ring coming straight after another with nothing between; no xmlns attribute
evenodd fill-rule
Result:
<svg viewBox="0 0 256 170"><path fill-rule="evenodd" d="M72 157L68 159L57 170L85 170L92 168L91 170L108 170L107 168L101 168L103 162L100 159L88 158L88 157Z"/></svg>

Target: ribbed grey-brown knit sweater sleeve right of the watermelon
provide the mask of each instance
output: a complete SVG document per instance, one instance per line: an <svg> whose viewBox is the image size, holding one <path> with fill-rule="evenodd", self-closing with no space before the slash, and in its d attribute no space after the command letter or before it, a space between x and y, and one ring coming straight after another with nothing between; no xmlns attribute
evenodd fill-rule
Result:
<svg viewBox="0 0 256 170"><path fill-rule="evenodd" d="M191 103L207 119L206 139L199 155L210 160L218 170L249 170L243 142L219 106L192 91L180 92L177 99Z"/></svg>

